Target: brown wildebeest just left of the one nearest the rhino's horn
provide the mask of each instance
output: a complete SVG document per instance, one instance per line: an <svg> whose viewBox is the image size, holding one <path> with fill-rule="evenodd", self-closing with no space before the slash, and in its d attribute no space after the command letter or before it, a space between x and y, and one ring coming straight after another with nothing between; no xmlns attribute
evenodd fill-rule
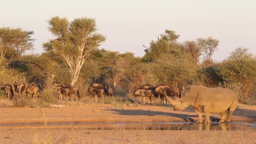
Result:
<svg viewBox="0 0 256 144"><path fill-rule="evenodd" d="M142 104L145 104L145 97L149 97L150 104L152 104L152 99L155 101L156 93L153 90L146 90L146 89L138 89L134 91L134 96L141 96Z"/></svg>

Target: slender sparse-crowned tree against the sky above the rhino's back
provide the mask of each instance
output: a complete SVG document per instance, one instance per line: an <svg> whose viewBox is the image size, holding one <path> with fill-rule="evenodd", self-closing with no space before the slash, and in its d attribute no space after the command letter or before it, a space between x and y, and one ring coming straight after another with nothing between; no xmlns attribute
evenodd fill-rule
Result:
<svg viewBox="0 0 256 144"><path fill-rule="evenodd" d="M212 37L198 38L197 43L204 53L205 64L211 64L213 53L218 50L219 40Z"/></svg>

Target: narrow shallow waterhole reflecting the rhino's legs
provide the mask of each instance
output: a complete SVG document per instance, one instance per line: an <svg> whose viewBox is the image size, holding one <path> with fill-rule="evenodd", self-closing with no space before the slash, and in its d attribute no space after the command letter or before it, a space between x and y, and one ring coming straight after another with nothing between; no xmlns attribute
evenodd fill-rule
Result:
<svg viewBox="0 0 256 144"><path fill-rule="evenodd" d="M81 129L81 130L186 130L186 131L256 131L253 123L51 123L51 124L8 124L8 129Z"/></svg>

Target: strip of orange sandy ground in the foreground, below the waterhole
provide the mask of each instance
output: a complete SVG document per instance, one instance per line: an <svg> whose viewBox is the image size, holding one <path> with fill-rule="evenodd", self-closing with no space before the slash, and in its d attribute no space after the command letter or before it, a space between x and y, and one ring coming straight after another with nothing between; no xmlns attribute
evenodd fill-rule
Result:
<svg viewBox="0 0 256 144"><path fill-rule="evenodd" d="M1 144L255 144L255 131L0 129Z"/></svg>

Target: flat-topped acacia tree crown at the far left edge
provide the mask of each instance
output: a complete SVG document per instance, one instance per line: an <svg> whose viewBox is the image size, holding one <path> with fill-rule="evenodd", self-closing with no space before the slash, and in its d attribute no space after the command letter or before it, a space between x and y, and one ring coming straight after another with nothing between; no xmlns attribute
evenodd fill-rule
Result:
<svg viewBox="0 0 256 144"><path fill-rule="evenodd" d="M21 28L0 28L1 56L11 60L19 59L25 51L32 50L35 40L32 38L33 34L33 31Z"/></svg>

